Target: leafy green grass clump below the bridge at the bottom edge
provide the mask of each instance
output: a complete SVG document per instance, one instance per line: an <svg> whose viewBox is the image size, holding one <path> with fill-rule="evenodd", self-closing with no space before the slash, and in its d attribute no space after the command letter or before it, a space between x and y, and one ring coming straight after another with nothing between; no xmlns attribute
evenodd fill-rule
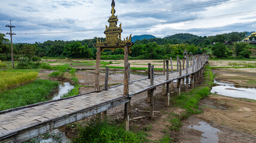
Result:
<svg viewBox="0 0 256 143"><path fill-rule="evenodd" d="M143 132L125 131L122 125L116 123L89 122L86 126L76 124L79 135L73 142L147 142Z"/></svg>

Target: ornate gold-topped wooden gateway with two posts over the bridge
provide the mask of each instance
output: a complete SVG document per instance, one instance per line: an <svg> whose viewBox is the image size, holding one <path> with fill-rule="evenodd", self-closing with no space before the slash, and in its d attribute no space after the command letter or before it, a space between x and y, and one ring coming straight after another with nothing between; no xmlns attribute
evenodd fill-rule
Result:
<svg viewBox="0 0 256 143"><path fill-rule="evenodd" d="M99 84L99 75L100 75L100 57L101 52L103 52L105 49L110 49L111 51L115 51L115 49L122 48L124 49L125 55L124 55L124 95L129 95L129 64L128 64L128 54L131 53L131 46L133 43L131 42L131 35L129 38L127 37L122 41L121 39L121 33L122 33L122 23L118 26L118 17L114 14L116 13L115 10L115 1L112 0L112 10L111 10L111 17L109 17L109 27L106 25L106 30L104 34L106 35L106 41L98 40L97 43L94 44L94 46L97 48L97 58L96 58L96 67L95 67L95 91L100 92L100 84Z"/></svg>

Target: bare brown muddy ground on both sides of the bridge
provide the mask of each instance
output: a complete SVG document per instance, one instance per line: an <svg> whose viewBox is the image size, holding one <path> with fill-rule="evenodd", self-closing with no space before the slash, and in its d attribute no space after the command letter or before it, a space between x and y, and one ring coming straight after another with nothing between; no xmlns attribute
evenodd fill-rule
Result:
<svg viewBox="0 0 256 143"><path fill-rule="evenodd" d="M147 67L147 63L159 65L156 68L162 68L162 60L130 60L131 67ZM106 61L109 62L109 61ZM109 66L123 66L122 60L112 60L113 64ZM233 62L233 61L231 61ZM237 62L237 61L236 61ZM69 62L67 62L69 63ZM227 66L228 61L219 63L210 61L211 65L221 64ZM80 70L76 73L80 85L86 87L80 88L80 93L94 91L94 66L77 66ZM40 73L42 77L46 77L51 71L43 71ZM124 79L123 70L110 70L109 83L122 83ZM216 79L220 82L234 83L242 86L254 86L256 80L255 69L214 69ZM100 85L104 84L104 68L101 67ZM141 79L146 77L144 71L131 74L131 80ZM237 77L237 78L234 78ZM46 77L47 78L47 77ZM112 86L112 85L110 85ZM174 89L175 90L175 89ZM148 138L152 141L158 141L166 135L168 128L171 126L168 122L168 114L174 112L181 114L184 110L176 107L167 107L165 105L165 97L161 95L161 87L156 88L154 96L154 119L149 118L149 113L138 110L149 110L149 104L146 102L147 92L135 95L131 98L131 114L129 118L130 129L145 130L149 133ZM176 92L173 93L173 96ZM256 102L239 101L234 98L224 97L221 95L210 95L200 102L200 106L204 113L189 117L184 120L180 132L171 132L170 135L174 138L174 142L200 142L203 138L203 132L195 129L190 129L188 126L198 125L198 122L203 121L208 123L213 128L219 129L217 133L217 142L256 142ZM110 119L122 119L124 116L124 105L108 110ZM132 120L134 117L143 117L141 119ZM89 119L87 119L89 120ZM83 121L82 121L83 122ZM62 129L68 137L72 138L77 134L72 128Z"/></svg>

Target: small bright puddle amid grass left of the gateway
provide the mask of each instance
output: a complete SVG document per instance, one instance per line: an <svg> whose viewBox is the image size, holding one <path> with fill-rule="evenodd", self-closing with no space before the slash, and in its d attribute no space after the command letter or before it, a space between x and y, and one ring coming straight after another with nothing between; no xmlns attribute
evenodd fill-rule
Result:
<svg viewBox="0 0 256 143"><path fill-rule="evenodd" d="M64 94L67 94L71 89L73 89L74 86L70 85L68 82L63 82L61 85L59 85L59 91L56 93L52 100L58 100L60 99Z"/></svg>

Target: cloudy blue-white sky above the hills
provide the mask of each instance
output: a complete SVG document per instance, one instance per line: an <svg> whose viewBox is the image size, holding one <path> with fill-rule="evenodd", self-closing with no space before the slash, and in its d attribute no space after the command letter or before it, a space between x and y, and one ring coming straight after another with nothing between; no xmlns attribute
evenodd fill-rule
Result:
<svg viewBox="0 0 256 143"><path fill-rule="evenodd" d="M0 33L14 43L105 37L112 0L0 0ZM211 36L256 31L255 0L116 0L122 38L176 33ZM10 35L6 35L10 39Z"/></svg>

